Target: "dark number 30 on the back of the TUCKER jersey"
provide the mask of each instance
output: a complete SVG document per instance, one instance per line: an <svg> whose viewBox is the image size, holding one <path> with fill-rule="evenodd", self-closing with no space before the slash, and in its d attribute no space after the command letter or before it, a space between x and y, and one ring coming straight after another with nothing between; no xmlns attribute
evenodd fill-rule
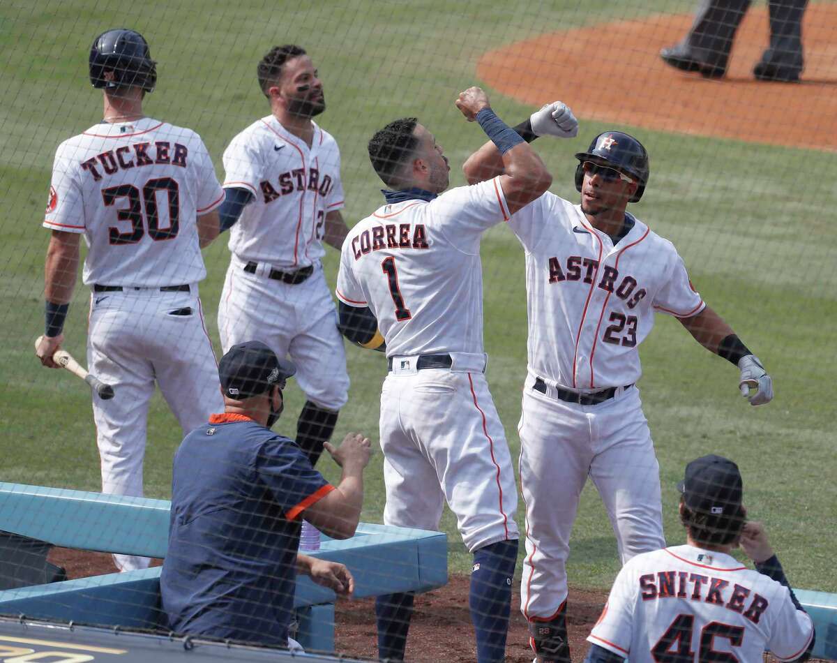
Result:
<svg viewBox="0 0 837 663"><path fill-rule="evenodd" d="M160 228L160 215L157 213L157 192L165 192L168 202L168 228ZM116 226L110 226L110 244L136 244L146 233L145 226L148 226L148 236L151 239L173 239L180 232L180 188L177 180L171 177L158 177L150 179L140 190L133 184L120 184L118 187L102 189L102 200L105 206L116 203L118 198L126 198L127 206L116 209L116 218L119 221L130 221L131 230L122 233ZM143 224L142 203L146 208L146 224Z"/></svg>

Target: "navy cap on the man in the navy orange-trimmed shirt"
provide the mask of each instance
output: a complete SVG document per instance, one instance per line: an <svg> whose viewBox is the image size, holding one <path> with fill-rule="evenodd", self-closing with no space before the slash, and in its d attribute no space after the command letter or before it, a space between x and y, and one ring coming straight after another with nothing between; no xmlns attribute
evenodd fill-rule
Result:
<svg viewBox="0 0 837 663"><path fill-rule="evenodd" d="M261 341L234 345L218 363L223 395L235 400L258 396L294 373L293 362L276 357Z"/></svg>

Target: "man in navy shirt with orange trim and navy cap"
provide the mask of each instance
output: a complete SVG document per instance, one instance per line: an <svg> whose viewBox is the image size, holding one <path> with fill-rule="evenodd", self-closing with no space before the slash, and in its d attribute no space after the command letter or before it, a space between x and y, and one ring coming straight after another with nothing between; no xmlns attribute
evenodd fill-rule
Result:
<svg viewBox="0 0 837 663"><path fill-rule="evenodd" d="M342 468L331 486L293 440L270 430L293 364L253 341L231 347L218 373L223 414L189 433L174 457L162 609L180 634L285 647L296 573L352 592L342 564L297 553L300 519L332 538L352 537L369 440L348 434L339 448L326 443Z"/></svg>

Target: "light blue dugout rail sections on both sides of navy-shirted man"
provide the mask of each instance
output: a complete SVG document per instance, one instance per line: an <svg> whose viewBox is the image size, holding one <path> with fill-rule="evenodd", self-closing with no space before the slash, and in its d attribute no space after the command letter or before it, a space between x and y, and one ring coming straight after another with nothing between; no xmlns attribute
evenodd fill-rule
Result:
<svg viewBox="0 0 837 663"><path fill-rule="evenodd" d="M167 500L121 497L0 482L0 530L55 546L165 558ZM313 557L341 562L355 577L356 598L426 592L448 581L447 537L360 523L346 540L323 535ZM79 578L0 591L0 614L83 624L157 629L161 568ZM334 650L335 594L299 577L296 639L306 650Z"/></svg>

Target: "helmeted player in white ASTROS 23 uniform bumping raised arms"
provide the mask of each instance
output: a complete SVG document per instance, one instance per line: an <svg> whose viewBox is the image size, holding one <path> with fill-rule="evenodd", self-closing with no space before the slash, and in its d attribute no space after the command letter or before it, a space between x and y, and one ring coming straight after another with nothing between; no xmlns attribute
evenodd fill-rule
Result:
<svg viewBox="0 0 837 663"><path fill-rule="evenodd" d="M533 128L543 112L531 116ZM534 137L525 126L519 131ZM570 660L565 562L588 476L623 563L665 546L659 465L636 387L639 343L654 314L677 317L704 347L736 364L750 403L773 398L761 362L692 288L674 245L625 211L648 182L644 147L605 131L576 158L580 205L547 192L509 223L526 252L529 316L518 426L527 522L521 609L544 662ZM465 164L469 182L499 172L490 143Z"/></svg>

